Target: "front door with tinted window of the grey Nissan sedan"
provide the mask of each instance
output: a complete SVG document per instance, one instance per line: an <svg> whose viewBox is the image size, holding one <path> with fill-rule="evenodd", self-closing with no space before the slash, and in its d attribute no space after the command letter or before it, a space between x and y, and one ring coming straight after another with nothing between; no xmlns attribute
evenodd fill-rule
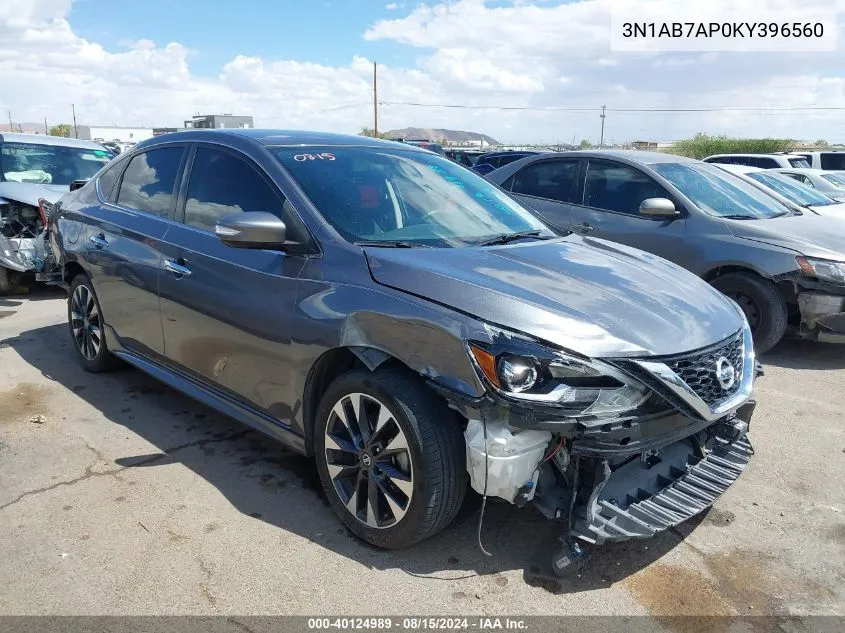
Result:
<svg viewBox="0 0 845 633"><path fill-rule="evenodd" d="M305 258L223 244L214 234L217 219L244 211L267 211L283 220L292 213L251 159L198 145L186 170L177 222L163 246L166 356L177 369L286 421L295 363L290 323Z"/></svg>

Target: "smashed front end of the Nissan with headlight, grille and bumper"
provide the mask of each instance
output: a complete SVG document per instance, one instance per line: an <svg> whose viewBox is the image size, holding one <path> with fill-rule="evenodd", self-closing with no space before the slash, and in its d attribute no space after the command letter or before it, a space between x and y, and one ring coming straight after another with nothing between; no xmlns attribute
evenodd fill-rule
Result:
<svg viewBox="0 0 845 633"><path fill-rule="evenodd" d="M465 413L471 484L563 523L558 572L578 542L648 538L702 512L753 454L747 323L672 357L591 360L497 337L471 349L495 394Z"/></svg>

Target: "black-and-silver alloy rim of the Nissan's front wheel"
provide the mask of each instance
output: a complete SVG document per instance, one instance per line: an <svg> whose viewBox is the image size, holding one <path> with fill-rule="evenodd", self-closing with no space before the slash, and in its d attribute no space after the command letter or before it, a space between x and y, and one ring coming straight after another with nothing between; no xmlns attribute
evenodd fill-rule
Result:
<svg viewBox="0 0 845 633"><path fill-rule="evenodd" d="M408 439L379 400L363 393L341 398L326 425L326 465L346 509L371 528L405 516L414 491Z"/></svg>

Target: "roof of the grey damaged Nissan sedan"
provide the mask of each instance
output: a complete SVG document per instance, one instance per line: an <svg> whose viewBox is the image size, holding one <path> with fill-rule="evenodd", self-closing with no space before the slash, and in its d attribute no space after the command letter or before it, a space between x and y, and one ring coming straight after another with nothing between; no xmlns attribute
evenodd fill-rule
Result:
<svg viewBox="0 0 845 633"><path fill-rule="evenodd" d="M333 146L360 146L360 147L392 147L402 148L409 151L426 151L408 143L387 141L384 139L372 138L369 136L357 136L353 134L334 134L332 132L308 132L304 130L262 130L251 128L217 128L213 130L186 129L157 136L146 141L141 141L136 147L150 147L159 143L172 142L175 139L182 141L203 141L213 140L225 141L233 137L247 138L262 145L333 145Z"/></svg>

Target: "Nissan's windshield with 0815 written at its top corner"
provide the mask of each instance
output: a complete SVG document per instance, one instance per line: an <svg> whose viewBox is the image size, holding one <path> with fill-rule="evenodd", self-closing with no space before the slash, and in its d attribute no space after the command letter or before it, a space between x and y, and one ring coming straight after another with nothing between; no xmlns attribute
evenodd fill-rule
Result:
<svg viewBox="0 0 845 633"><path fill-rule="evenodd" d="M373 147L276 150L350 242L459 247L503 234L554 234L493 184L447 158Z"/></svg>

